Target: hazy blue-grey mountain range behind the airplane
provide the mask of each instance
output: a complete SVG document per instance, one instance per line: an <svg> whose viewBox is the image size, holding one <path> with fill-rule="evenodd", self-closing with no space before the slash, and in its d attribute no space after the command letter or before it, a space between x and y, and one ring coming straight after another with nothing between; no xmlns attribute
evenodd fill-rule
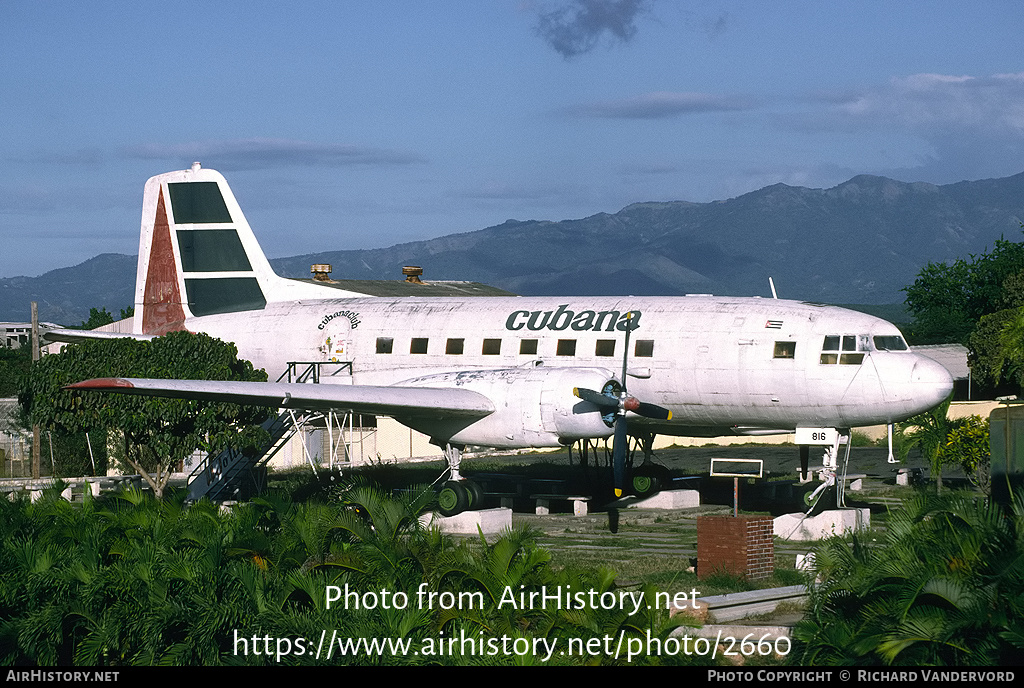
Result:
<svg viewBox="0 0 1024 688"><path fill-rule="evenodd" d="M773 184L711 203L636 203L577 220L508 220L477 231L384 249L327 251L270 261L307 277L330 263L336 280L482 282L523 295L770 296L892 304L930 262L1021 240L1024 173L935 185L860 175L831 188ZM260 229L256 228L257 235ZM102 254L38 277L0 278L0 320L65 325L90 307L131 304L135 256Z"/></svg>

